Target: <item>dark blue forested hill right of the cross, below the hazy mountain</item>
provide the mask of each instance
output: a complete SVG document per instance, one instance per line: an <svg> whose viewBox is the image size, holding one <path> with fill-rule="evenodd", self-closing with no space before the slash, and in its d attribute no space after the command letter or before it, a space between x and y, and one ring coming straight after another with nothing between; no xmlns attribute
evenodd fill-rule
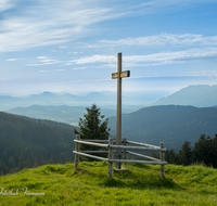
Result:
<svg viewBox="0 0 217 206"><path fill-rule="evenodd" d="M161 141L169 150L179 151L184 141L194 144L201 134L217 133L217 107L151 106L123 115L123 137L129 140L158 145ZM116 118L108 126L115 133Z"/></svg>

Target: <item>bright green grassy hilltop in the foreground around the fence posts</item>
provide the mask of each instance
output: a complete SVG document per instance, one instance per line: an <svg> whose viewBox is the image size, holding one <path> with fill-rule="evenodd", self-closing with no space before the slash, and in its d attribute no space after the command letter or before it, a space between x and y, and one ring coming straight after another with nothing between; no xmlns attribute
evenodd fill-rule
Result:
<svg viewBox="0 0 217 206"><path fill-rule="evenodd" d="M217 170L203 166L166 165L166 178L159 166L125 166L107 179L107 163L46 165L0 177L3 192L0 205L217 205ZM44 195L23 195L44 193ZM23 190L22 190L23 189Z"/></svg>

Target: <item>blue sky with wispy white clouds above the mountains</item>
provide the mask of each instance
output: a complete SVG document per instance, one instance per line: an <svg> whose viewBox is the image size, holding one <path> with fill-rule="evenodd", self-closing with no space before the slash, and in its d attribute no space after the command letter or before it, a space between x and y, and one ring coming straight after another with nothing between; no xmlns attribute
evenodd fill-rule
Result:
<svg viewBox="0 0 217 206"><path fill-rule="evenodd" d="M52 3L51 3L52 2ZM217 0L0 0L0 93L217 82Z"/></svg>

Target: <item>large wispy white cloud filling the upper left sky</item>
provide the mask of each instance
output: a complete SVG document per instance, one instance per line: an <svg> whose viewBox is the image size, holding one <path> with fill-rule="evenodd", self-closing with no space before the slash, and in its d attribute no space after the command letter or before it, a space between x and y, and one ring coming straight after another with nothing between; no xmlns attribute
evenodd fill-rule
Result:
<svg viewBox="0 0 217 206"><path fill-rule="evenodd" d="M9 1L3 1L7 8ZM0 52L60 44L90 35L90 25L116 18L123 14L98 7L95 0L33 0L22 7L14 1L13 13L0 20ZM16 3L16 4L15 4Z"/></svg>

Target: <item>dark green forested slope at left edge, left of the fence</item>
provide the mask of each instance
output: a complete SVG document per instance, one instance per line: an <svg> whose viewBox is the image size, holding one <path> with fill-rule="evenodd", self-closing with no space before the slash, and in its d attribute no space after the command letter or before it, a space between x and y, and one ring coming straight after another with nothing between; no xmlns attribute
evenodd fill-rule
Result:
<svg viewBox="0 0 217 206"><path fill-rule="evenodd" d="M0 112L0 172L73 160L74 127Z"/></svg>

